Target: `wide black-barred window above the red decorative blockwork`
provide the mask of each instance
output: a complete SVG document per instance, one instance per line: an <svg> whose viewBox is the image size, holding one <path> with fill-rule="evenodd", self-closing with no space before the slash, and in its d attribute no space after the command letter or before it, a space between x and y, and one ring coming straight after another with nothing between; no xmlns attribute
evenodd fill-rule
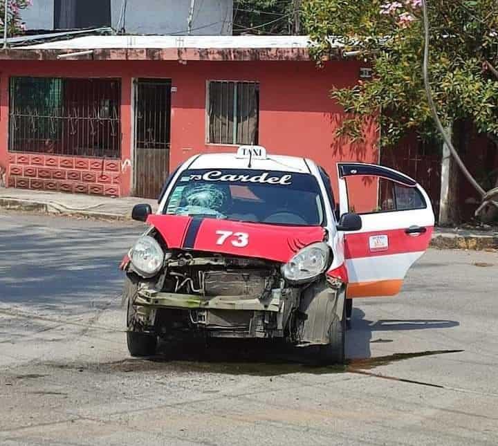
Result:
<svg viewBox="0 0 498 446"><path fill-rule="evenodd" d="M9 151L120 158L119 80L11 77Z"/></svg>

